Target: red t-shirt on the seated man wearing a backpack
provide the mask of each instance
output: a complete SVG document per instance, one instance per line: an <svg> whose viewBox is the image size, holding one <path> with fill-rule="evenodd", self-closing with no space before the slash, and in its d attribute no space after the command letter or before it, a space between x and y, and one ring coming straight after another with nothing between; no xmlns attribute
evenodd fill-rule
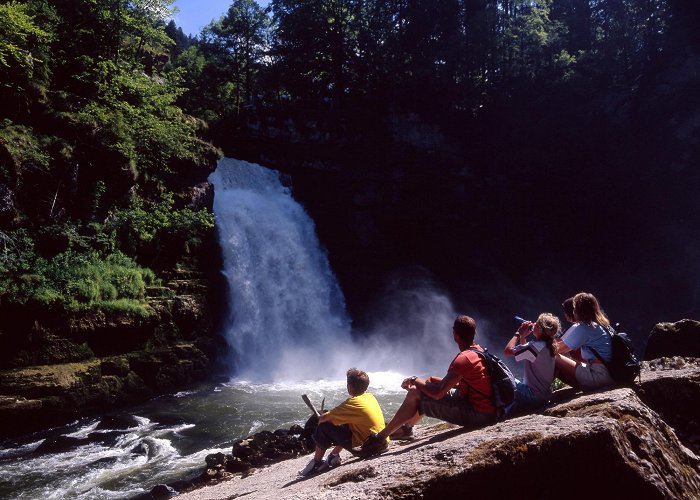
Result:
<svg viewBox="0 0 700 500"><path fill-rule="evenodd" d="M469 347L482 350L478 344L472 344ZM476 411L483 413L496 411L491 402L491 379L481 356L472 351L462 351L452 360L447 371L458 373L462 377L457 390L469 400Z"/></svg>

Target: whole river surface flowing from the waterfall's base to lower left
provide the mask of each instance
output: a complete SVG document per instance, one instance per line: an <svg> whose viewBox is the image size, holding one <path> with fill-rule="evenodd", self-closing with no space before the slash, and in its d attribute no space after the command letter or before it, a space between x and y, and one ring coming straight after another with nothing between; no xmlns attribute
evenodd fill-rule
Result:
<svg viewBox="0 0 700 500"><path fill-rule="evenodd" d="M385 414L402 400L395 372L370 373ZM148 493L157 484L192 479L210 453L230 453L233 443L260 430L303 425L309 410L339 404L343 379L251 383L231 380L166 395L131 408L119 419L86 418L45 432L0 443L0 498L121 499ZM108 428L105 427L107 424ZM41 445L70 441L60 451ZM80 443L80 444L78 444Z"/></svg>

